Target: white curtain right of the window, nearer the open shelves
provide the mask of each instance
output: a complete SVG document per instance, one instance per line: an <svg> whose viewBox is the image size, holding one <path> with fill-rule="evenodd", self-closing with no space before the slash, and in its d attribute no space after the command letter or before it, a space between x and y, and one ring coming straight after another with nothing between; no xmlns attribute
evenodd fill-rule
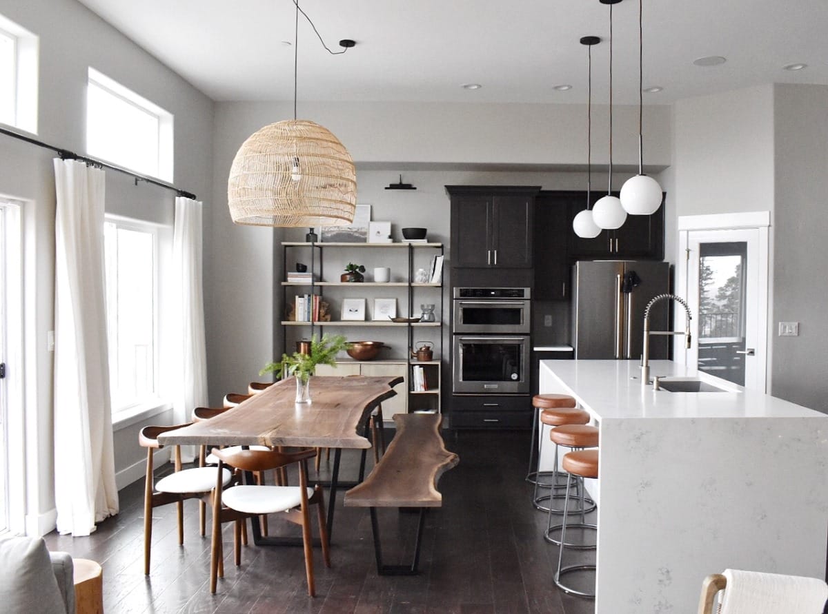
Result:
<svg viewBox="0 0 828 614"><path fill-rule="evenodd" d="M207 349L204 291L201 283L201 203L176 197L176 223L172 239L173 361L178 377L173 414L177 424L190 421L195 407L207 405ZM181 449L184 460L192 449Z"/></svg>

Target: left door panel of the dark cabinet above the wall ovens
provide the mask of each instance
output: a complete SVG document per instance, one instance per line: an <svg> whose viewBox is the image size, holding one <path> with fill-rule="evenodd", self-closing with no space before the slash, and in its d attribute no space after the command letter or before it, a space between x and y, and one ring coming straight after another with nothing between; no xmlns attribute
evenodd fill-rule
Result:
<svg viewBox="0 0 828 614"><path fill-rule="evenodd" d="M460 194L453 201L451 250L454 266L489 266L491 199L484 194Z"/></svg>

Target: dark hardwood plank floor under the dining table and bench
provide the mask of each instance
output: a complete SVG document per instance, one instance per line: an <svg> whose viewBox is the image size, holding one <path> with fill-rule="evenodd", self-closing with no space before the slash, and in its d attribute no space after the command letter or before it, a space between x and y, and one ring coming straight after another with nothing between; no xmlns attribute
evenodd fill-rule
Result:
<svg viewBox="0 0 828 614"><path fill-rule="evenodd" d="M460 432L455 438L446 432L445 437L446 447L460 455L460 464L440 479L443 506L426 516L421 575L416 577L377 575L368 511L342 506L341 492L332 568L325 568L320 550L314 550L315 598L307 596L301 548L251 544L243 548L237 568L230 525L224 528L225 577L211 595L209 535L198 535L195 501L185 502L183 547L176 538L176 507L153 511L152 573L144 576L142 481L120 492L120 513L104 520L93 535L52 533L46 544L103 565L104 607L110 614L594 612L593 602L566 595L552 582L558 549L542 539L546 515L532 507L532 489L523 479L529 434ZM343 453L342 477L353 479L358 463L358 453ZM170 467L159 471L169 472ZM386 562L409 561L416 514L382 509L379 520ZM277 516L269 524L272 535L299 535L295 525ZM574 558L594 561L595 551Z"/></svg>

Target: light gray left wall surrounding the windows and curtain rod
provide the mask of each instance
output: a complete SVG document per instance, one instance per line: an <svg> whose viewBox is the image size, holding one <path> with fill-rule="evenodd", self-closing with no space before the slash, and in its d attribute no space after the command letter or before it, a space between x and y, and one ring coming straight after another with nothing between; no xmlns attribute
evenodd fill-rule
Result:
<svg viewBox="0 0 828 614"><path fill-rule="evenodd" d="M85 87L93 66L175 116L175 183L210 206L213 103L75 0L0 0L0 13L40 37L41 141L84 154ZM50 530L54 517L52 355L46 332L54 305L54 152L0 137L0 194L26 200L26 523ZM107 172L107 210L171 223L174 194ZM143 458L137 426L121 434L117 469ZM128 442L130 445L128 446ZM119 442L120 443L120 442ZM132 445L134 444L134 445Z"/></svg>

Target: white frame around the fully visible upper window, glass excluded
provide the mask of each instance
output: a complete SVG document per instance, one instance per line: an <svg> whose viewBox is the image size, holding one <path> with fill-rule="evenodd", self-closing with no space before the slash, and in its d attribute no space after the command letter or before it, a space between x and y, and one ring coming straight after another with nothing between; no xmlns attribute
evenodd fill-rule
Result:
<svg viewBox="0 0 828 614"><path fill-rule="evenodd" d="M108 94L113 98L117 98L118 101L122 103L128 104L130 107L141 111L142 113L146 113L149 117L154 118L156 120L157 126L157 146L156 146L156 157L154 161L154 169L153 170L145 170L145 169L135 169L131 166L124 164L124 161L113 160L112 156L103 155L99 151L92 151L89 149L89 126L93 121L89 110L89 88L95 87L102 91L104 94ZM89 156L98 157L101 160L105 160L111 162L113 165L122 166L125 169L133 170L139 175L147 175L151 177L155 177L156 179L160 179L162 181L166 181L168 183L173 183L174 177L174 151L175 151L175 142L174 142L174 117L172 113L166 111L165 109L158 106L156 103L153 103L151 100L144 98L140 94L136 94L131 89L119 84L114 79L108 77L107 75L101 73L99 70L95 70L91 66L88 69L87 81L86 81L86 92L87 92L87 105L86 105L86 151Z"/></svg>

